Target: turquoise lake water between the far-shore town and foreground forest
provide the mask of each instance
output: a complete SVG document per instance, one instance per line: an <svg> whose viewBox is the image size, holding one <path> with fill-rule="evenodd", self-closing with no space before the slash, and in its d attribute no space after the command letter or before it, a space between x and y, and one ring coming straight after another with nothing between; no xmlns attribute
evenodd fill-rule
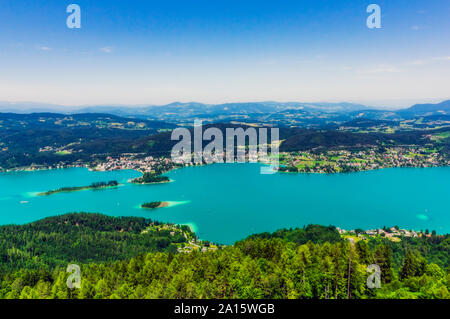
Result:
<svg viewBox="0 0 450 319"><path fill-rule="evenodd" d="M259 164L174 170L172 183L133 185L135 171L83 168L0 174L0 224L74 211L191 224L202 239L233 243L252 233L309 223L346 229L399 225L450 232L450 168L393 168L352 174L261 175ZM33 192L118 180L115 189L33 196ZM178 205L140 209L148 201ZM24 203L23 201L27 201ZM21 203L22 202L22 203Z"/></svg>

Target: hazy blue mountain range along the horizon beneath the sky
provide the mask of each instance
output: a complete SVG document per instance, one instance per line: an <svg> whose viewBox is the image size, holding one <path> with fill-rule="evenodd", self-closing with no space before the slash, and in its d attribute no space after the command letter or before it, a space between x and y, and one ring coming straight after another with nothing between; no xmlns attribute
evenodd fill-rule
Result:
<svg viewBox="0 0 450 319"><path fill-rule="evenodd" d="M0 102L0 111L18 113L56 112L58 106L39 103ZM190 123L194 119L205 122L265 123L284 126L323 127L353 119L401 121L421 116L450 115L450 100L437 104L416 104L401 110L380 110L355 103L303 103L303 102L245 102L204 104L174 102L152 106L89 106L65 108L66 114L101 113L126 118ZM61 107L59 108L61 112Z"/></svg>

